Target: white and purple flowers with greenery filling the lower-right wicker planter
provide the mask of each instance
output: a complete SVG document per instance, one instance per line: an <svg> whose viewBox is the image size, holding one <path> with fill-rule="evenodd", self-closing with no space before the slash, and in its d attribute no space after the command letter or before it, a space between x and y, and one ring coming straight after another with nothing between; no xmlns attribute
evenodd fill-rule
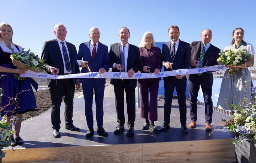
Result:
<svg viewBox="0 0 256 163"><path fill-rule="evenodd" d="M256 147L256 87L252 87L250 99L241 101L239 105L233 105L233 115L229 119L223 119L223 128L229 129L235 134L233 144L243 141L252 141Z"/></svg>

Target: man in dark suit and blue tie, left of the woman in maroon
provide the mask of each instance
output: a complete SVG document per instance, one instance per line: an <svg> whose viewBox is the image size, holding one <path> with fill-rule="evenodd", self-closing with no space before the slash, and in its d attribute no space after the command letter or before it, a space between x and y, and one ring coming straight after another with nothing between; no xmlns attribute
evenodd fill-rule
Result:
<svg viewBox="0 0 256 163"><path fill-rule="evenodd" d="M138 72L141 61L139 48L135 45L129 44L130 31L126 27L119 29L118 37L121 42L110 45L110 66L113 68L112 72L128 72L128 77L132 77L134 72ZM135 121L135 88L137 86L137 79L111 79L110 82L114 85L114 94L116 100L117 122L118 126L114 130L114 134L121 134L124 132L124 90L126 91L126 104L128 114L128 130L127 136L134 135L134 121Z"/></svg>

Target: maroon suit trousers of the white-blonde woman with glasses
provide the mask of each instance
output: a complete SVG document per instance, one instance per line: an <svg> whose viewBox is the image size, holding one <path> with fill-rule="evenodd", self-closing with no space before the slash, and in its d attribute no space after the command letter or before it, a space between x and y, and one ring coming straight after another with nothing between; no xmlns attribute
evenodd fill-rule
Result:
<svg viewBox="0 0 256 163"><path fill-rule="evenodd" d="M139 80L140 88L140 117L148 120L158 120L158 88L159 81Z"/></svg>

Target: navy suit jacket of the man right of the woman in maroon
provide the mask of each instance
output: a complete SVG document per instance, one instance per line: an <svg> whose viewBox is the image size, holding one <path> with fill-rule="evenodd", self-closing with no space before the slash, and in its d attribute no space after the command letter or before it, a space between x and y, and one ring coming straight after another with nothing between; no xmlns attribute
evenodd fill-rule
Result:
<svg viewBox="0 0 256 163"><path fill-rule="evenodd" d="M171 56L171 41L166 42L162 45L162 66L164 66L165 62L170 62L172 63L172 70L188 69L190 67L190 58L191 50L189 43L180 40L174 58L172 58ZM171 69L166 69L164 66L164 71L171 71ZM177 79L173 76L169 76L164 77L164 80L173 81L171 83L174 84L174 80L186 80L186 77L183 77L182 79Z"/></svg>

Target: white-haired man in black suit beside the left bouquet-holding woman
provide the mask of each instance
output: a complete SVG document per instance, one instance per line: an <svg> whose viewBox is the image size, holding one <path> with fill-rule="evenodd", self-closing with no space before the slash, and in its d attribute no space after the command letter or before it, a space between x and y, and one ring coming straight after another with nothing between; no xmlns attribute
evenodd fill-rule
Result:
<svg viewBox="0 0 256 163"><path fill-rule="evenodd" d="M46 41L42 49L41 59L45 60L44 70L52 75L66 75L80 73L79 67L75 66L76 57L75 45L65 41L66 27L62 24L55 25L54 34L56 39ZM75 87L80 88L80 82L76 79L47 79L47 84L52 100L52 128L53 137L60 137L60 104L62 98L65 103L65 128L71 131L79 131L73 125L73 99Z"/></svg>

